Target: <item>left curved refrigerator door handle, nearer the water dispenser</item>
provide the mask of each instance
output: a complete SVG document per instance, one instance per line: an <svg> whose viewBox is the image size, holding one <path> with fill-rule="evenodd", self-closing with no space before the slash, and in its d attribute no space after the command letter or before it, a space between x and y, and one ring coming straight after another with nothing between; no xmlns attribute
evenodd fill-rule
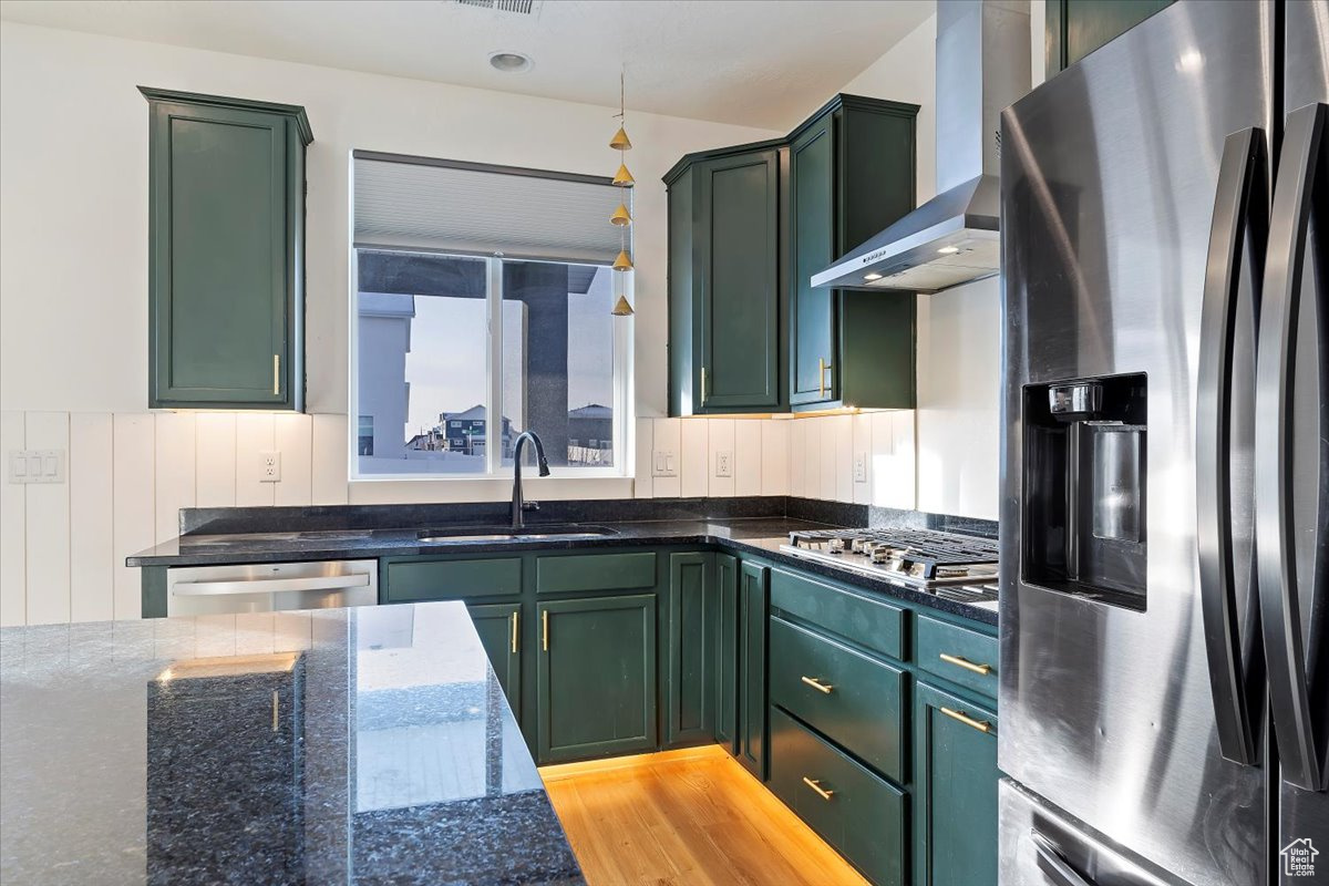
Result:
<svg viewBox="0 0 1329 886"><path fill-rule="evenodd" d="M1224 757L1243 765L1259 762L1251 715L1263 707L1264 675L1248 673L1241 650L1232 542L1232 380L1243 256L1255 280L1252 316L1260 308L1259 286L1264 278L1269 228L1268 169L1263 129L1228 135L1219 167L1204 274L1195 410L1196 547L1209 684L1219 749ZM1241 566L1249 574L1253 563ZM1251 630L1259 643L1259 626ZM1259 668L1260 659L1256 647L1251 664Z"/></svg>

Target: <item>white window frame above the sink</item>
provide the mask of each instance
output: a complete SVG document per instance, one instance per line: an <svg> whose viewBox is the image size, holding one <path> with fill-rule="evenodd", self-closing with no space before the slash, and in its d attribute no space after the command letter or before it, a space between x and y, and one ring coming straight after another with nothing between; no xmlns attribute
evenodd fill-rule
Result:
<svg viewBox="0 0 1329 886"><path fill-rule="evenodd" d="M355 162L351 161L351 175L354 182L355 175ZM348 344L348 360L347 360L347 402L348 416L359 416L360 409L360 329L359 329L359 254L361 248L372 248L375 251L392 251L392 252L408 252L408 254L445 254L445 255L460 255L460 252L451 251L436 251L423 250L420 247L400 247L393 248L391 246L383 244L356 244L354 236L355 224L355 206L354 206L355 187L351 187L351 227L352 236L350 244L350 280L348 280L348 323L350 329L347 335ZM630 194L626 195L629 199ZM485 480L510 480L513 476L512 466L504 466L502 464L502 264L505 260L513 262L545 262L552 263L552 259L505 259L500 255L489 256L474 256L485 262L485 323L488 325L489 336L486 341L486 367L485 367L485 470L472 472L472 473L400 473L400 474L375 474L375 473L361 473L359 461L359 421L347 421L347 454L348 454L348 470L347 477L350 482L412 482L412 481L485 481ZM587 266L586 262L566 262L567 264ZM609 267L606 262L602 267ZM629 302L635 302L635 294L633 291L635 274L633 271L627 272L611 272L613 280L613 298L617 299L619 295L626 295ZM498 320L498 321L496 321ZM614 317L613 321L613 356L611 356L611 372L613 372L613 393L611 393L611 429L614 434L615 445L613 446L614 465L610 468L574 468L571 465L557 465L550 466L550 476L548 480L593 480L593 478L614 478L622 480L631 477L630 460L634 452L634 444L630 438L633 429L633 422L629 421L633 405L633 327L635 315L626 317ZM496 408L497 406L497 408ZM497 414L498 421L489 421L489 416ZM447 432L447 428L445 428Z"/></svg>

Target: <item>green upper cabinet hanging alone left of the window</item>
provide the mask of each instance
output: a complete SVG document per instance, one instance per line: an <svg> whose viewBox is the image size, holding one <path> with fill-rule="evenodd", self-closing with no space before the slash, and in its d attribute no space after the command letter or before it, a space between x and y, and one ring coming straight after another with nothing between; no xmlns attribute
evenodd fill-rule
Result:
<svg viewBox="0 0 1329 886"><path fill-rule="evenodd" d="M149 406L303 409L304 109L140 92Z"/></svg>

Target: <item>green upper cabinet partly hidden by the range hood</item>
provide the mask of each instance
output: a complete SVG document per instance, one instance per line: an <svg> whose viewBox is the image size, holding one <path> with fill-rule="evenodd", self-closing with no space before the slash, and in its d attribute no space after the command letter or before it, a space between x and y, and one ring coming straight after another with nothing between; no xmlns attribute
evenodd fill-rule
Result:
<svg viewBox="0 0 1329 886"><path fill-rule="evenodd" d="M917 105L836 96L789 145L789 404L914 405L914 296L812 275L914 206Z"/></svg>

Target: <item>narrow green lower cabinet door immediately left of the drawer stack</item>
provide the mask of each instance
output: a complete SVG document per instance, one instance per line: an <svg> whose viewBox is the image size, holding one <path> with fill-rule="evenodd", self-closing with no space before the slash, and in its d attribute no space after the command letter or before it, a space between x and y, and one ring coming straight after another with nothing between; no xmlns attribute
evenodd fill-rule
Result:
<svg viewBox="0 0 1329 886"><path fill-rule="evenodd" d="M739 762L767 777L766 647L771 569L743 563L739 570Z"/></svg>

